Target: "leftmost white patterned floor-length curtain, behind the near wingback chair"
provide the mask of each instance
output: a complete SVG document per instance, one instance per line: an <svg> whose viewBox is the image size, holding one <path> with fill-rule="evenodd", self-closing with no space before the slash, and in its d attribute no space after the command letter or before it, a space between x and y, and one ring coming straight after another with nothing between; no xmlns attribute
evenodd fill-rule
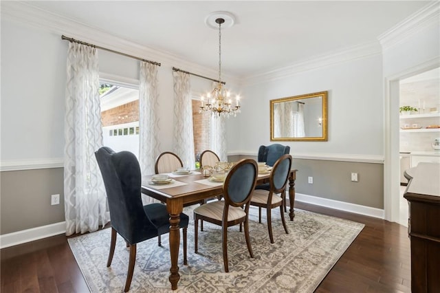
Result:
<svg viewBox="0 0 440 293"><path fill-rule="evenodd" d="M94 153L102 146L98 88L96 48L69 43L64 159L66 235L96 231L110 220Z"/></svg>

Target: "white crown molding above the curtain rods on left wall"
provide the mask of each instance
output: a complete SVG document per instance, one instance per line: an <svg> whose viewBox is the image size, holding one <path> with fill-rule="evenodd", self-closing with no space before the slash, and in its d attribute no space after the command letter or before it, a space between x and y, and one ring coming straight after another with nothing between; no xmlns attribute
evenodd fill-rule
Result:
<svg viewBox="0 0 440 293"><path fill-rule="evenodd" d="M69 38L162 63L166 67L179 67L202 76L213 76L213 78L218 74L217 69L203 67L197 63L185 61L171 52L146 47L133 41L113 36L99 28L85 25L74 19L61 17L58 14L32 6L32 2L2 1L1 18L30 28L59 34L60 39L61 35L64 34ZM241 79L232 74L223 74L223 77L225 80L229 80L229 83L239 84L241 81Z"/></svg>

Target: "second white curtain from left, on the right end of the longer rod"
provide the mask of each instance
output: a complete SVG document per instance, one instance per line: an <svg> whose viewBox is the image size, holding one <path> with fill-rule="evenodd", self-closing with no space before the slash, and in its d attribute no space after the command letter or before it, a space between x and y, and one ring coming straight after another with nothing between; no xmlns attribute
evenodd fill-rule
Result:
<svg viewBox="0 0 440 293"><path fill-rule="evenodd" d="M154 174L154 164L159 155L159 83L157 65L141 61L139 79L139 163L142 175ZM159 202L142 195L143 204Z"/></svg>

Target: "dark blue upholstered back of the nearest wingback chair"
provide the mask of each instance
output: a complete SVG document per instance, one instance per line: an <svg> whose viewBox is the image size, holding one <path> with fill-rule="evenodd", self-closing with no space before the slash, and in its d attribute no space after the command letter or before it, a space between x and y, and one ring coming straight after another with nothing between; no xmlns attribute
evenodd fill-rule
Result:
<svg viewBox="0 0 440 293"><path fill-rule="evenodd" d="M155 227L142 205L137 158L129 151L115 153L107 146L98 149L95 157L107 192L111 226L129 243L142 241L146 230Z"/></svg>

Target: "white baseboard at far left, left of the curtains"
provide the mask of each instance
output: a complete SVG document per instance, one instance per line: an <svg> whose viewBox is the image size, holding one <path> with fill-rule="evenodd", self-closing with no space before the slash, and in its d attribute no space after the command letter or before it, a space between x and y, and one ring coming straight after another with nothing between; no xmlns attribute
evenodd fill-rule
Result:
<svg viewBox="0 0 440 293"><path fill-rule="evenodd" d="M46 226L21 230L17 232L0 235L0 248L7 248L21 243L26 243L66 232L66 222L50 224Z"/></svg>

